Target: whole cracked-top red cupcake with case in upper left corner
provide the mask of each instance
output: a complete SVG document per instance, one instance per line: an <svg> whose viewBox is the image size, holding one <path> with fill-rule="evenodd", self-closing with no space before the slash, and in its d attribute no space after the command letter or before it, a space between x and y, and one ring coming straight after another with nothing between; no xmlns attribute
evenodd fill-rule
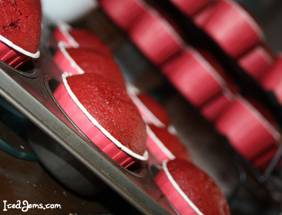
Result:
<svg viewBox="0 0 282 215"><path fill-rule="evenodd" d="M0 60L17 67L39 57L41 21L33 0L0 2Z"/></svg>

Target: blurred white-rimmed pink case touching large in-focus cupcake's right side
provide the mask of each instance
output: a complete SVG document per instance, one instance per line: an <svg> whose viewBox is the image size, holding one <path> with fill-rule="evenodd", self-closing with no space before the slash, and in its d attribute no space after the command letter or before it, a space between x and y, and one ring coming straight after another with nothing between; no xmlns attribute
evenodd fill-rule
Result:
<svg viewBox="0 0 282 215"><path fill-rule="evenodd" d="M135 87L134 87L135 88ZM136 89L132 88L132 86L127 87L127 93L128 96L131 98L131 100L134 102L134 104L137 106L141 116L143 117L144 121L147 123L154 124L156 127L164 128L166 125L160 121L148 108L147 106L140 101L140 99L136 96Z"/></svg>

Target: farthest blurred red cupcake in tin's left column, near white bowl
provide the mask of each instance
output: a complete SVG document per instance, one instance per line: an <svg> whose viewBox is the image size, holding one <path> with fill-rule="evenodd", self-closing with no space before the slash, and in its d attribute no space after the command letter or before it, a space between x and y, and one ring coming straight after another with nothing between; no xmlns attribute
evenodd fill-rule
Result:
<svg viewBox="0 0 282 215"><path fill-rule="evenodd" d="M67 23L59 23L53 35L57 42L64 42L67 47L93 49L113 57L110 47L88 30L72 28Z"/></svg>

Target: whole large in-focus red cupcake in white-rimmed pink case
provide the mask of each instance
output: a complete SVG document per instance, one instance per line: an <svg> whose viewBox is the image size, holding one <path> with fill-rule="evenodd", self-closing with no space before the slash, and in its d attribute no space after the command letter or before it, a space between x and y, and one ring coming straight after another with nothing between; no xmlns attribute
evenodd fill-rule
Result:
<svg viewBox="0 0 282 215"><path fill-rule="evenodd" d="M125 90L95 74L67 77L54 97L76 126L118 164L148 159L146 124Z"/></svg>

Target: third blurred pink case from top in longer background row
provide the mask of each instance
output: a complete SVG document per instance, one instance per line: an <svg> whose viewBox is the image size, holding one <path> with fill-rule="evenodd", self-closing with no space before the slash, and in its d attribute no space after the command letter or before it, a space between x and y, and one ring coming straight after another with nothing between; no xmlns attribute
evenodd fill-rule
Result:
<svg viewBox="0 0 282 215"><path fill-rule="evenodd" d="M211 64L190 47L164 63L161 71L196 107L203 105L226 86Z"/></svg>

